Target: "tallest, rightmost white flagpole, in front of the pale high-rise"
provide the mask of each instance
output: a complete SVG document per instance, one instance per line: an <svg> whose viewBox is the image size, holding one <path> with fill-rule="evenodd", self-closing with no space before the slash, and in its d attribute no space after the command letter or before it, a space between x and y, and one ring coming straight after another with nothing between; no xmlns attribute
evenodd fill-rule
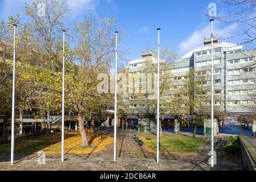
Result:
<svg viewBox="0 0 256 182"><path fill-rule="evenodd" d="M213 19L210 20L212 23L212 31L211 31L211 57L212 57L212 64L211 64L211 167L214 167L214 123L213 123L213 106L214 106L214 98L213 98Z"/></svg>

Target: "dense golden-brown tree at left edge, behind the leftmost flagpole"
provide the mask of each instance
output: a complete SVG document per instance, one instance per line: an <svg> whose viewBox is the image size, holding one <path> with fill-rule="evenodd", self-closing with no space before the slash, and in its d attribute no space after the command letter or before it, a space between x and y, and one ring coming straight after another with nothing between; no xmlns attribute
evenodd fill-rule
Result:
<svg viewBox="0 0 256 182"><path fill-rule="evenodd" d="M18 113L28 98L35 92L35 87L31 85L30 78L34 75L27 67L29 60L32 60L32 50L34 44L31 43L29 28L21 23L19 16L9 16L9 21L2 21L0 25L0 73L1 73L1 117L3 118L2 141L7 141L7 127L10 126L11 119L11 93L13 78L13 24L18 24L16 32L16 77L15 77L15 113ZM26 76L25 76L26 75ZM26 77L26 78L25 78Z"/></svg>

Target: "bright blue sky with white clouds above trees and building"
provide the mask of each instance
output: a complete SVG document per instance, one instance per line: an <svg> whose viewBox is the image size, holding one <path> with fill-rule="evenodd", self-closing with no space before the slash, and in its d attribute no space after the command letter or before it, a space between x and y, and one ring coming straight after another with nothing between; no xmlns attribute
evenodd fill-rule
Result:
<svg viewBox="0 0 256 182"><path fill-rule="evenodd" d="M8 15L20 14L26 19L24 3L32 0L0 0L0 20ZM129 48L127 60L137 59L147 47L156 51L157 28L161 28L160 46L169 46L182 56L193 48L201 46L203 38L210 38L209 3L216 3L217 16L227 13L222 0L66 0L71 15L66 24L72 26L74 20L117 18L117 26L123 27L127 35L123 46ZM88 11L90 9L90 11ZM243 27L238 24L214 22L214 34L221 39L236 35ZM237 39L225 42L238 43Z"/></svg>

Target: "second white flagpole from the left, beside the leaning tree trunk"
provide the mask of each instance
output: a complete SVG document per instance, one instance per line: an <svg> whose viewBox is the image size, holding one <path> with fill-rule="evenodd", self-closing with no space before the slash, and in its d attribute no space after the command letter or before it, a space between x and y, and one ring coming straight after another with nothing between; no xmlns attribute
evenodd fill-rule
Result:
<svg viewBox="0 0 256 182"><path fill-rule="evenodd" d="M64 162L64 115L65 115L65 107L64 107L64 81L65 81L65 32L63 31L63 63L62 63L62 162Z"/></svg>

